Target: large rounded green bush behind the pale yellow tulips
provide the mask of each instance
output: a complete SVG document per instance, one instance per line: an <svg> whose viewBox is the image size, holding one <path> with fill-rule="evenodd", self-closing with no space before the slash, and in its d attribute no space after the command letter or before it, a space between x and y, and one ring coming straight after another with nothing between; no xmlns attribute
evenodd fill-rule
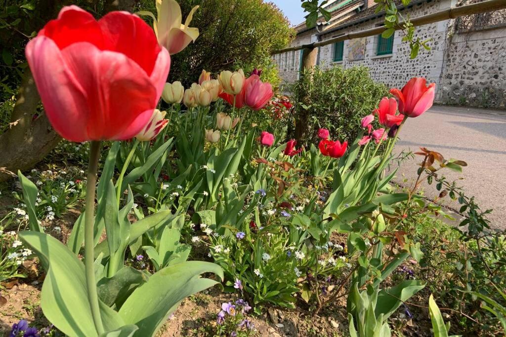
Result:
<svg viewBox="0 0 506 337"><path fill-rule="evenodd" d="M139 9L156 13L154 4L143 0ZM191 24L200 36L172 56L170 81L181 81L185 87L198 79L202 69L217 73L240 65L247 73L265 67L270 54L294 37L282 12L262 0L181 0L179 4L183 18L200 6Z"/></svg>

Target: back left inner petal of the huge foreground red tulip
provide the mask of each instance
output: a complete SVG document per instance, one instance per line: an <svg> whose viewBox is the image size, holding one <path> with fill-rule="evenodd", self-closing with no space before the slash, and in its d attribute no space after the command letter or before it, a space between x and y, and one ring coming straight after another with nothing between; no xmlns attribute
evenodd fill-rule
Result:
<svg viewBox="0 0 506 337"><path fill-rule="evenodd" d="M104 49L104 40L99 23L93 15L77 6L62 8L58 18L49 21L38 36L51 38L63 49L74 42L90 42L99 49Z"/></svg>

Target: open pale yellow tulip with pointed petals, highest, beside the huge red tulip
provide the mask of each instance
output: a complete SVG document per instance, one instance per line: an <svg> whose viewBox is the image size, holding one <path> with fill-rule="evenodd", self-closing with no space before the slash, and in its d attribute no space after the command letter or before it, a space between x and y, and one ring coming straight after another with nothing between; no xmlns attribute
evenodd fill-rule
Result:
<svg viewBox="0 0 506 337"><path fill-rule="evenodd" d="M156 0L158 20L155 21L155 33L158 43L164 46L171 55L181 52L191 42L195 42L199 35L198 28L192 28L190 22L198 6L193 7L182 24L181 8L176 0Z"/></svg>

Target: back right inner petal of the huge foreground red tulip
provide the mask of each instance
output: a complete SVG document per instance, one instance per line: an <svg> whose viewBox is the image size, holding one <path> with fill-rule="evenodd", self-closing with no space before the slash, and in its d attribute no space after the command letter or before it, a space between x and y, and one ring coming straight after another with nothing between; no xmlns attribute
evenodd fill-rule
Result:
<svg viewBox="0 0 506 337"><path fill-rule="evenodd" d="M126 55L144 69L148 76L154 72L154 64L161 47L151 27L141 18L127 12L110 12L99 20L99 24L106 50ZM165 62L164 65L168 68L170 63ZM165 69L162 69L162 72L164 73ZM163 81L165 79L166 77Z"/></svg>

